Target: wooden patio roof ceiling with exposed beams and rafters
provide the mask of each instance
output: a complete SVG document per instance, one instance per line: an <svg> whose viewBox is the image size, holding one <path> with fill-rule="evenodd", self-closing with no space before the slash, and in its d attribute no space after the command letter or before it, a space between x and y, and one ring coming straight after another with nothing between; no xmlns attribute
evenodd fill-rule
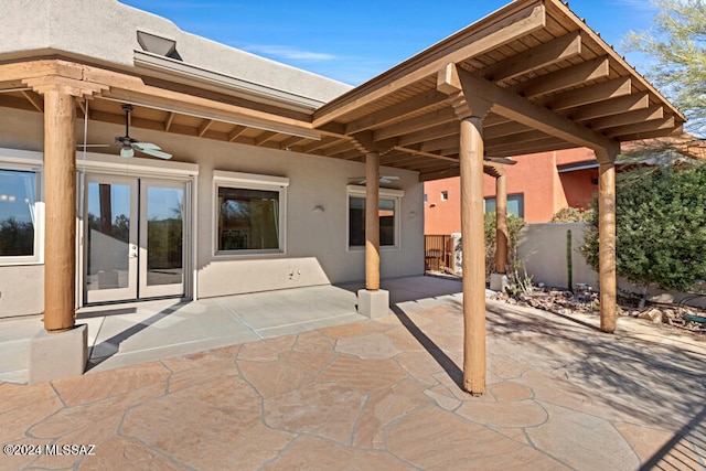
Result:
<svg viewBox="0 0 706 471"><path fill-rule="evenodd" d="M417 171L425 181L459 174L459 118L440 82L448 64L457 65L467 94L492 104L483 120L488 157L600 149L676 135L685 121L557 0L514 1L317 109L170 81L139 64L113 72L82 65L81 79L109 85L90 101L92 120L121 125L120 104L131 103L133 128L345 160L375 150L382 165ZM20 68L0 71L0 106L43 111L28 77L46 71ZM484 170L496 175L502 167L488 162Z"/></svg>

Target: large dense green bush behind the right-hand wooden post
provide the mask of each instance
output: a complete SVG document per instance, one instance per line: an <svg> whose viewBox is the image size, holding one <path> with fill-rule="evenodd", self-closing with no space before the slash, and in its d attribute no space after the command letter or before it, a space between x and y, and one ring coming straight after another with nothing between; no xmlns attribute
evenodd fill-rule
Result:
<svg viewBox="0 0 706 471"><path fill-rule="evenodd" d="M616 264L638 285L687 291L706 277L706 168L634 169L618 176ZM584 255L598 270L598 207Z"/></svg>

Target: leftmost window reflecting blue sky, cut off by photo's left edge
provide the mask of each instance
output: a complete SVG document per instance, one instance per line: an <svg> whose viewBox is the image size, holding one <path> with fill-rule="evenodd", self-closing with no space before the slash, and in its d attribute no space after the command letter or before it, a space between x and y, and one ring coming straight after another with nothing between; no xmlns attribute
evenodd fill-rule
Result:
<svg viewBox="0 0 706 471"><path fill-rule="evenodd" d="M39 172L0 169L0 264L39 261Z"/></svg>

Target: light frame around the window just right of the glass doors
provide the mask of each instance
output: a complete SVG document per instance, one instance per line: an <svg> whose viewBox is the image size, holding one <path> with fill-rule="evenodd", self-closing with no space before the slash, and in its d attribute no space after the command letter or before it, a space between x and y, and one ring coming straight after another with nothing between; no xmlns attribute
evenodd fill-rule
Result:
<svg viewBox="0 0 706 471"><path fill-rule="evenodd" d="M289 186L289 179L285 176L271 176L261 175L255 173L242 173L229 172L224 170L215 170L213 172L213 224L212 228L212 255L218 258L226 257L247 257L258 255L281 255L287 253L287 188ZM278 245L279 248L265 248L265 249L235 249L235 250L220 250L218 249L218 189L229 188L235 190L260 190L279 193L279 234Z"/></svg>

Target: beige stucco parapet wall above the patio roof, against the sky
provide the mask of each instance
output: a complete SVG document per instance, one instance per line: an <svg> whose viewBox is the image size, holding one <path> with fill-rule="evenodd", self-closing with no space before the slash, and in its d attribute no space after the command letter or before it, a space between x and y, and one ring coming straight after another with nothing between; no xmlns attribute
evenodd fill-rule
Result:
<svg viewBox="0 0 706 471"><path fill-rule="evenodd" d="M181 31L171 21L117 0L2 0L0 55L65 52L133 67L137 32L176 42L183 63L327 103L350 85Z"/></svg>

